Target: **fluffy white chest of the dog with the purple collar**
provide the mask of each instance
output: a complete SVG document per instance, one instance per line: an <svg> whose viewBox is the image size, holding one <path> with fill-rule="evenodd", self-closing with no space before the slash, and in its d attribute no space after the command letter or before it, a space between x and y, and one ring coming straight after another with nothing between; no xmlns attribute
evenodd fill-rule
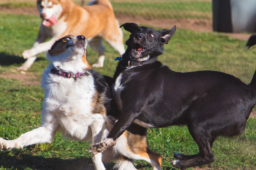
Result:
<svg viewBox="0 0 256 170"><path fill-rule="evenodd" d="M58 124L64 137L91 141L90 125L104 122L101 114L92 113L96 93L93 77L74 79L49 75L43 78L42 87L45 90L42 114Z"/></svg>

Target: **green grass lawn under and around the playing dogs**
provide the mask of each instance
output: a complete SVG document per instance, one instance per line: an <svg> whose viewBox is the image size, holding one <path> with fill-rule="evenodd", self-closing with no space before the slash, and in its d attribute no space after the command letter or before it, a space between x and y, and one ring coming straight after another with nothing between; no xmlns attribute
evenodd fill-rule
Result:
<svg viewBox="0 0 256 170"><path fill-rule="evenodd" d="M148 1L154 3L153 0ZM117 2L118 0L114 1ZM135 1L126 2L132 6ZM185 1L173 2L179 5L180 2ZM32 47L40 19L38 16L7 14L1 11L0 18L0 137L14 139L41 125L40 112L44 92L39 84L28 82L41 80L41 74L48 61L45 54L40 54L26 73L27 79L4 78L5 75L19 75L16 67L24 62L21 53ZM126 40L129 34L125 30L123 32ZM219 33L177 29L169 43L165 45L165 53L159 57L159 60L175 71L222 71L249 83L256 69L256 47L247 51L245 43ZM105 65L96 70L104 75L113 76L117 65L114 59L119 55L108 44L104 43L104 45L106 46ZM96 55L96 52L88 49L90 63L96 62ZM193 169L256 169L255 129L256 119L249 118L244 134L232 138L219 137L213 144L216 161ZM163 170L175 170L170 164L170 161L174 160L174 152L183 154L198 152L197 145L185 126L148 129L148 143L153 151L162 155ZM87 150L88 146L87 143L65 140L61 138L60 133L57 133L52 144L35 144L23 149L0 151L0 170L91 170L93 165ZM135 161L135 166L139 170L152 169L145 161ZM113 163L106 164L107 169L112 167Z"/></svg>

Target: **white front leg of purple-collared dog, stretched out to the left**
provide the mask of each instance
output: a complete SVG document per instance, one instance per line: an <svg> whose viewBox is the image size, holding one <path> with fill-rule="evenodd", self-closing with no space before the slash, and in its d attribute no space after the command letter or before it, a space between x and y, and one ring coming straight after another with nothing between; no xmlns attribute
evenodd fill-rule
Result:
<svg viewBox="0 0 256 170"><path fill-rule="evenodd" d="M0 150L23 148L24 146L38 143L51 143L53 142L55 132L56 127L48 125L26 132L14 140L4 140L3 138L0 138Z"/></svg>

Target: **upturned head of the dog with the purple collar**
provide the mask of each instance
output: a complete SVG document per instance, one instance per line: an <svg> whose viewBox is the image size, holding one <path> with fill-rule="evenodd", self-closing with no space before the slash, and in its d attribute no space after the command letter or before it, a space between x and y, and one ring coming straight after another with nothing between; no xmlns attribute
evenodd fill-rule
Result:
<svg viewBox="0 0 256 170"><path fill-rule="evenodd" d="M91 65L86 59L87 41L82 35L67 35L54 42L51 49L46 53L54 67L68 72L83 72L91 69Z"/></svg>

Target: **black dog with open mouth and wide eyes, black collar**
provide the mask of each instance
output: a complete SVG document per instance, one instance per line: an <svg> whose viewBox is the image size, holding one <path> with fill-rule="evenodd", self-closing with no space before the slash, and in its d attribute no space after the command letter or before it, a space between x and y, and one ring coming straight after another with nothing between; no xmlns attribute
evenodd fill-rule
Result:
<svg viewBox="0 0 256 170"><path fill-rule="evenodd" d="M256 104L256 72L249 85L216 71L174 72L156 60L174 34L175 26L170 30L134 23L121 26L131 32L114 75L114 95L121 115L108 137L93 144L90 152L96 154L115 144L132 123L150 128L186 124L199 153L175 153L177 160L172 165L186 169L213 162L215 139L245 130Z"/></svg>

